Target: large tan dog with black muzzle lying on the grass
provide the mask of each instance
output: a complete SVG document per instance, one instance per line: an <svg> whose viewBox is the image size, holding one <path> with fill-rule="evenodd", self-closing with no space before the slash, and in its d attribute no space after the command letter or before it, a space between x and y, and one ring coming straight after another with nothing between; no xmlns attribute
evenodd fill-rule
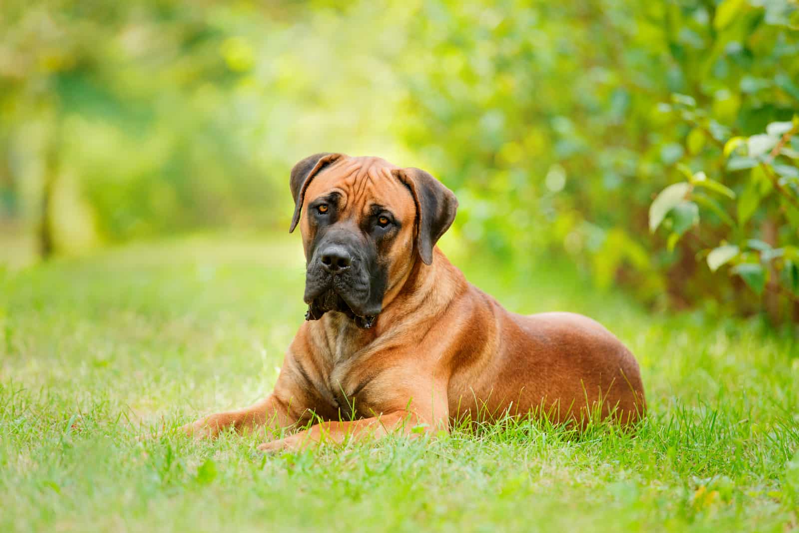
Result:
<svg viewBox="0 0 799 533"><path fill-rule="evenodd" d="M320 153L292 168L291 190L307 321L272 394L186 433L307 428L259 447L276 451L446 431L463 417L642 417L638 364L598 322L508 312L452 266L435 243L458 201L427 172Z"/></svg>

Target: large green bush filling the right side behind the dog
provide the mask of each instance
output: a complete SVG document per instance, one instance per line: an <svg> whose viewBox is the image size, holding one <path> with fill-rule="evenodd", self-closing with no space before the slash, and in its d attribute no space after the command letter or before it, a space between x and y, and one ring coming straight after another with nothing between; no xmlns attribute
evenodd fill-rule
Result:
<svg viewBox="0 0 799 533"><path fill-rule="evenodd" d="M712 270L731 263L733 278L781 302L773 318L795 316L796 294L776 284L793 283L799 243L795 3L432 2L423 14L411 31L430 53L408 81L406 139L456 189L497 206L480 239L516 260L565 249L598 285L610 272L647 301L665 289L757 310L765 300L691 264L757 238L769 250L725 248ZM555 166L565 186L549 188L537 176ZM608 253L611 232L648 260Z"/></svg>

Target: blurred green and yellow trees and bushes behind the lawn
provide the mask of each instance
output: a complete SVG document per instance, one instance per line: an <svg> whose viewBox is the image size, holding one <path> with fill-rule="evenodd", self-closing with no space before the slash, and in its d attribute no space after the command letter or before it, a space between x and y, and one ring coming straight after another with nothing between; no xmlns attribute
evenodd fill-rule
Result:
<svg viewBox="0 0 799 533"><path fill-rule="evenodd" d="M287 231L292 165L345 152L509 267L799 322L795 0L4 0L0 113L0 269Z"/></svg>

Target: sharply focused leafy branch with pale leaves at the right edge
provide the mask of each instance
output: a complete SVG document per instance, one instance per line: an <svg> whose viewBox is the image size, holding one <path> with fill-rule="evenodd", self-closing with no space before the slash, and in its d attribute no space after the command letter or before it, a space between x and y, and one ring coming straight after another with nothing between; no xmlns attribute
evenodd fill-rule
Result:
<svg viewBox="0 0 799 533"><path fill-rule="evenodd" d="M696 119L696 113L688 114L691 120ZM696 129L692 131L697 131ZM690 134L686 142L690 143ZM791 302L799 302L799 292L796 290L793 272L796 268L795 260L799 254L796 244L797 222L792 215L799 210L799 169L793 160L799 159L799 153L793 150L793 144L799 144L799 116L794 116L792 121L772 122L765 128L765 133L753 136L733 136L729 140L718 139L721 151L716 151L717 160L707 160L709 167L725 168L720 174L727 180L735 180L737 173L743 173L743 184L740 195L731 189L707 178L705 172L692 174L685 165L681 170L688 176L689 181L672 184L665 188L650 206L650 230L658 228L666 214L670 213L675 219L685 219L681 206L690 204L685 199L692 198L697 187L708 188L721 199L736 199L737 221L724 207L718 203L705 203L710 211L717 215L724 224L708 232L714 239L743 241L747 236L762 233L753 231L747 224L757 215L762 224L771 227L767 243L761 239L746 239L737 245L725 244L709 250L707 263L710 270L715 272L721 266L730 263L729 274L740 276L751 290L757 295L763 294L765 288L770 286L773 291L785 294ZM726 164L724 164L726 160ZM748 172L747 172L748 171ZM706 201L710 200L704 196ZM694 204L695 206L696 204ZM732 211L733 205L728 207ZM797 211L799 212L799 211ZM693 223L675 223L671 227L669 247L674 247L685 233L686 229L698 223L698 212L692 212ZM762 226L761 226L762 227ZM781 246L780 246L781 245ZM744 250L741 252L741 250ZM773 276L773 280L770 278Z"/></svg>

